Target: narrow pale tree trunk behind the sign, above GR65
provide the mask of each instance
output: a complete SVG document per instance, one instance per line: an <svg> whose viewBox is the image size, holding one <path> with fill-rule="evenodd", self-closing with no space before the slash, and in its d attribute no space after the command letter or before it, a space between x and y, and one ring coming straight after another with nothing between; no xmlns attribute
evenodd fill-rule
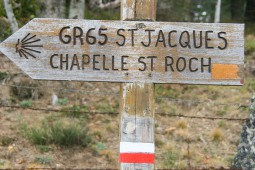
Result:
<svg viewBox="0 0 255 170"><path fill-rule="evenodd" d="M83 19L85 12L85 0L71 0L69 18Z"/></svg>

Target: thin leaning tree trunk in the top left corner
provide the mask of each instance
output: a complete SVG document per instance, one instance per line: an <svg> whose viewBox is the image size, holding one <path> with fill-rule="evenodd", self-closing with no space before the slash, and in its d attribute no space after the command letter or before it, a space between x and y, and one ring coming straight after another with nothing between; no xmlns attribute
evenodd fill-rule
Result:
<svg viewBox="0 0 255 170"><path fill-rule="evenodd" d="M11 0L4 0L4 8L11 25L11 30L14 33L19 29L19 26L12 10Z"/></svg>

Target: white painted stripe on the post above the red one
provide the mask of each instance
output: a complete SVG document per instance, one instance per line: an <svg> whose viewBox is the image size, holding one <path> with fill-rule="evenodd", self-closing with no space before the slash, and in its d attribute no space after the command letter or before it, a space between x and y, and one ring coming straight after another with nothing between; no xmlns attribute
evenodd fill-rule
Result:
<svg viewBox="0 0 255 170"><path fill-rule="evenodd" d="M120 153L155 153L154 143L120 142Z"/></svg>

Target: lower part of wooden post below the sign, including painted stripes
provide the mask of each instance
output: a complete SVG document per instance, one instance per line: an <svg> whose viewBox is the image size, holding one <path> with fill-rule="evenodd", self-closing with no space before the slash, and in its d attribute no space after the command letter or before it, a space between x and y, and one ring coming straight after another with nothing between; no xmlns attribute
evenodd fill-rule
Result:
<svg viewBox="0 0 255 170"><path fill-rule="evenodd" d="M144 83L124 83L121 88L120 100L120 167L135 170L154 168L154 85ZM130 149L129 143L134 146ZM131 144L130 144L131 143ZM151 150L139 145L150 144ZM123 149L123 148L128 149ZM122 152L122 150L125 150ZM130 154L129 162L122 161L122 154ZM135 158L132 155L138 154ZM145 158L144 158L145 157ZM146 158L150 157L150 158ZM144 158L139 162L139 158ZM133 162L132 162L133 161Z"/></svg>

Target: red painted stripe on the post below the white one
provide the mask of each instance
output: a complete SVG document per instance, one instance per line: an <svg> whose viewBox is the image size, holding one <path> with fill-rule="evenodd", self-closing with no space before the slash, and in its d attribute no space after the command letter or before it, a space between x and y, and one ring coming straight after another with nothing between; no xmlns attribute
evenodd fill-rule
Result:
<svg viewBox="0 0 255 170"><path fill-rule="evenodd" d="M154 164L155 155L150 153L120 153L121 163Z"/></svg>

